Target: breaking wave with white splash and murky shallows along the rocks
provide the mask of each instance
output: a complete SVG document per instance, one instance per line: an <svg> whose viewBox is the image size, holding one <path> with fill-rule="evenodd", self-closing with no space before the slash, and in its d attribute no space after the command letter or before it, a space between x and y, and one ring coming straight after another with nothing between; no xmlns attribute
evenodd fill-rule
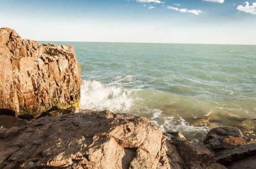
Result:
<svg viewBox="0 0 256 169"><path fill-rule="evenodd" d="M84 81L84 85L81 86L80 111L110 110L115 113L146 116L161 131L182 132L190 141L203 141L209 131L211 125L209 121L211 120L215 124L232 126L240 121L241 117L251 114L244 113L241 107L238 107L239 110L238 108L233 109L234 104L232 104L232 108L219 101L204 102L154 89L122 87L122 84L136 82L137 80L132 76L117 77L114 82L106 85L95 80ZM253 108L255 109L255 107ZM234 115L237 119L235 121ZM198 119L203 122L195 122ZM230 120L234 123L231 124Z"/></svg>

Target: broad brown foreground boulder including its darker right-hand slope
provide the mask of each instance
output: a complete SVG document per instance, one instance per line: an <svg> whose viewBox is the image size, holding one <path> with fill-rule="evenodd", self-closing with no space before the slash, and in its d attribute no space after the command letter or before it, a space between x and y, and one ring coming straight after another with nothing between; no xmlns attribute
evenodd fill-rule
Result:
<svg viewBox="0 0 256 169"><path fill-rule="evenodd" d="M146 117L109 111L0 129L0 168L224 169L204 147L170 142Z"/></svg>

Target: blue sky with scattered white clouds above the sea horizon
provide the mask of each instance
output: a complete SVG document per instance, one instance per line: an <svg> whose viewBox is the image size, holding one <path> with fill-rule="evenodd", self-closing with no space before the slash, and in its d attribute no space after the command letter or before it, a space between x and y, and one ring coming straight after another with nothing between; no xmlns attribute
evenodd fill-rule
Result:
<svg viewBox="0 0 256 169"><path fill-rule="evenodd" d="M256 0L0 0L24 39L256 45Z"/></svg>

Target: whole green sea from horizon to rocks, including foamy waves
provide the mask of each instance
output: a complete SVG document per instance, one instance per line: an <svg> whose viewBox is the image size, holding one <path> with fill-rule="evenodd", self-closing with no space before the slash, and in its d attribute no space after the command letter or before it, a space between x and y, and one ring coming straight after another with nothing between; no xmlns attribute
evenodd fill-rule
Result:
<svg viewBox="0 0 256 169"><path fill-rule="evenodd" d="M80 111L147 116L194 142L217 126L255 138L256 45L52 43L75 49Z"/></svg>

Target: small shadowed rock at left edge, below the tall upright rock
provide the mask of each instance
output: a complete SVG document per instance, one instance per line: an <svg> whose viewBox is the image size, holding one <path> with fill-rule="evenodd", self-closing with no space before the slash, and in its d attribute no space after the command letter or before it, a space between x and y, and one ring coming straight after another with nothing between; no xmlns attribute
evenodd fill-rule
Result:
<svg viewBox="0 0 256 169"><path fill-rule="evenodd" d="M12 127L23 127L29 122L10 115L0 115L0 127L9 129Z"/></svg>

